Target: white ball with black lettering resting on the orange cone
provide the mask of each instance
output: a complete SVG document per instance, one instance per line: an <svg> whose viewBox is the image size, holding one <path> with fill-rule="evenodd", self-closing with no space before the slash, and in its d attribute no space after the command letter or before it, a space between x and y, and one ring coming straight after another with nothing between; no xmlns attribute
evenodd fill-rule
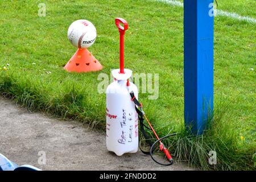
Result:
<svg viewBox="0 0 256 182"><path fill-rule="evenodd" d="M97 36L94 25L85 19L73 22L68 28L68 39L77 48L88 48L95 42Z"/></svg>

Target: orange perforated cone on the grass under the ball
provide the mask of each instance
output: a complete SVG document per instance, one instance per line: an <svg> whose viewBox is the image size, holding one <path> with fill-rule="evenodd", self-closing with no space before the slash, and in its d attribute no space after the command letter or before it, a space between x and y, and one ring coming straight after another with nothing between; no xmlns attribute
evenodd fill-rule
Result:
<svg viewBox="0 0 256 182"><path fill-rule="evenodd" d="M102 69L100 62L88 51L88 49L77 49L64 69L68 72L92 72Z"/></svg>

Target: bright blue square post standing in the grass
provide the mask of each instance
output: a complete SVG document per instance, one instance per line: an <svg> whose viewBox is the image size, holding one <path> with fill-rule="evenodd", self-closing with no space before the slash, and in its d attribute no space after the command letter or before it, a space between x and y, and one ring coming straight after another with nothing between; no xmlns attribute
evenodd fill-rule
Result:
<svg viewBox="0 0 256 182"><path fill-rule="evenodd" d="M213 112L213 0L184 0L184 119L202 134Z"/></svg>

